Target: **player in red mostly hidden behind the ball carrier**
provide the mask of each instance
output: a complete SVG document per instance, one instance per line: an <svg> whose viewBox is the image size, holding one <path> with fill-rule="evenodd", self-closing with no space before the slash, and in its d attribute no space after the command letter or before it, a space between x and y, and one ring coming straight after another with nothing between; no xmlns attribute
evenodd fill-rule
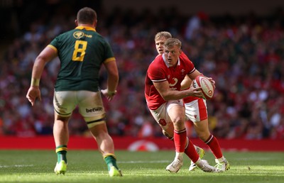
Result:
<svg viewBox="0 0 284 183"><path fill-rule="evenodd" d="M155 35L155 47L159 55L164 52L164 43L168 38L172 38L172 35L167 31L159 32ZM185 55L183 52L182 55ZM186 57L186 55L185 55ZM187 89L190 87L192 79L190 77L185 76L185 79L182 81L181 89ZM183 99L185 104L185 116L187 121L192 121L195 131L198 137L210 148L212 151L215 162L217 162L217 171L224 172L225 170L229 170L229 162L222 154L222 150L220 148L219 142L217 138L214 137L209 131L208 127L208 116L207 116L207 104L206 100L199 98L197 96L187 96ZM173 138L173 129L169 129L167 131L163 131L163 133L170 139ZM204 150L195 146L197 153L202 158L204 155ZM187 154L187 150L185 149L185 153ZM193 161L191 161L189 170L195 170L197 166Z"/></svg>

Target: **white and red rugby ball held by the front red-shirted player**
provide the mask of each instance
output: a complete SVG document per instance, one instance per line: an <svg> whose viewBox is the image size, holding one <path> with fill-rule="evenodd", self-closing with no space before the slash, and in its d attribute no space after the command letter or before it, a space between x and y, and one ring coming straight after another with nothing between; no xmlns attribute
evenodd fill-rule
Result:
<svg viewBox="0 0 284 183"><path fill-rule="evenodd" d="M212 99L214 95L214 87L212 83L207 79L207 77L204 77L203 75L199 75L195 77L193 80L193 87L201 87L202 89L202 98L203 99Z"/></svg>

